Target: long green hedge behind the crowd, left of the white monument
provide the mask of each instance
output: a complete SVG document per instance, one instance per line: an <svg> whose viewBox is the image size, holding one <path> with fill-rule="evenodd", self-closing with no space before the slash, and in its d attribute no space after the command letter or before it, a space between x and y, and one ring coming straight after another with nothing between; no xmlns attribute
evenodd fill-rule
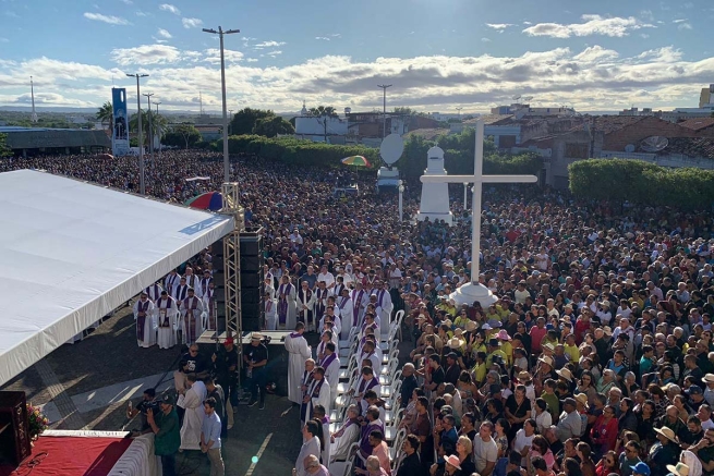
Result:
<svg viewBox="0 0 714 476"><path fill-rule="evenodd" d="M231 154L255 154L269 160L299 166L344 167L341 160L349 156L364 156L373 168L380 164L378 149L320 144L292 137L233 135L228 138L228 150Z"/></svg>

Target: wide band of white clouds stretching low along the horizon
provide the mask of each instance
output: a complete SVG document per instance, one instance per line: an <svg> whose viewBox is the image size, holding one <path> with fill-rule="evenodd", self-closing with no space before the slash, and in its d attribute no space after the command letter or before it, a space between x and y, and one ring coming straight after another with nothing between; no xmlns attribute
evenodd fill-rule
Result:
<svg viewBox="0 0 714 476"><path fill-rule="evenodd" d="M266 59L271 50L265 50ZM226 74L229 99L277 111L298 110L302 99L350 105L353 110L380 108L382 97L374 94L374 85L385 77L395 84L391 103L426 111L460 105L469 105L470 111L484 111L492 103L508 103L515 93L534 96L540 105L568 103L578 110L617 110L632 103L665 109L695 105L702 85L714 77L714 58L688 61L674 47L627 57L597 45L498 57L358 60L325 56L290 65L276 65L275 61L264 64L255 54L240 61L238 51L228 54L232 61ZM108 98L112 78L117 86L135 87L121 65L150 74L152 91L161 98L165 109L196 110L198 90L208 110L220 108L215 49L183 51L167 45L145 45L111 51L110 57L117 57L118 68L48 58L0 59L0 103L15 103L17 94L26 90L27 77L35 75L36 91L59 95L48 97L58 105L99 106Z"/></svg>

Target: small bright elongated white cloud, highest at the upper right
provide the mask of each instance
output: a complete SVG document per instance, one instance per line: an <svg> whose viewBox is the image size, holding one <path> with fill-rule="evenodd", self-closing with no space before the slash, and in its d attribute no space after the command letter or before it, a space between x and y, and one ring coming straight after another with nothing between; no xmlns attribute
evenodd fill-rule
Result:
<svg viewBox="0 0 714 476"><path fill-rule="evenodd" d="M606 19L601 15L582 15L584 23L564 25L560 23L538 23L523 29L529 36L548 36L552 38L570 38L571 36L603 35L624 37L631 30L654 28L654 25L643 23L634 16L627 19L614 16Z"/></svg>

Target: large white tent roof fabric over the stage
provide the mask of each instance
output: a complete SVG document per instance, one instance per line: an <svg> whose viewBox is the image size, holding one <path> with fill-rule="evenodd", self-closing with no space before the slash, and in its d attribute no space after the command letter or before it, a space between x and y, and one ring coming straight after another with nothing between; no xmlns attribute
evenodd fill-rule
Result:
<svg viewBox="0 0 714 476"><path fill-rule="evenodd" d="M0 386L232 230L232 217L0 173Z"/></svg>

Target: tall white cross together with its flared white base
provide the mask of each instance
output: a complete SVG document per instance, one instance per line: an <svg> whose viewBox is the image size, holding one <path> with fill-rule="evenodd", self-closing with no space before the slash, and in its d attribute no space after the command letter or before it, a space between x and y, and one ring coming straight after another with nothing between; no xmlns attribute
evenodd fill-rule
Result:
<svg viewBox="0 0 714 476"><path fill-rule="evenodd" d="M422 175L424 185L443 185L448 183L470 183L473 182L473 202L472 212L473 220L471 235L471 282L461 285L449 296L456 302L457 306L462 304L472 305L479 301L482 306L486 307L497 301L497 297L488 291L488 288L479 282L479 259L481 256L481 193L484 183L535 183L535 175L484 175L483 174L483 120L476 122L476 154L474 157L473 175ZM429 150L431 152L431 150ZM444 154L444 152L441 152ZM431 154L429 154L431 157ZM447 197L448 200L448 197ZM424 194L422 193L422 204L424 204ZM448 203L447 203L448 206Z"/></svg>

